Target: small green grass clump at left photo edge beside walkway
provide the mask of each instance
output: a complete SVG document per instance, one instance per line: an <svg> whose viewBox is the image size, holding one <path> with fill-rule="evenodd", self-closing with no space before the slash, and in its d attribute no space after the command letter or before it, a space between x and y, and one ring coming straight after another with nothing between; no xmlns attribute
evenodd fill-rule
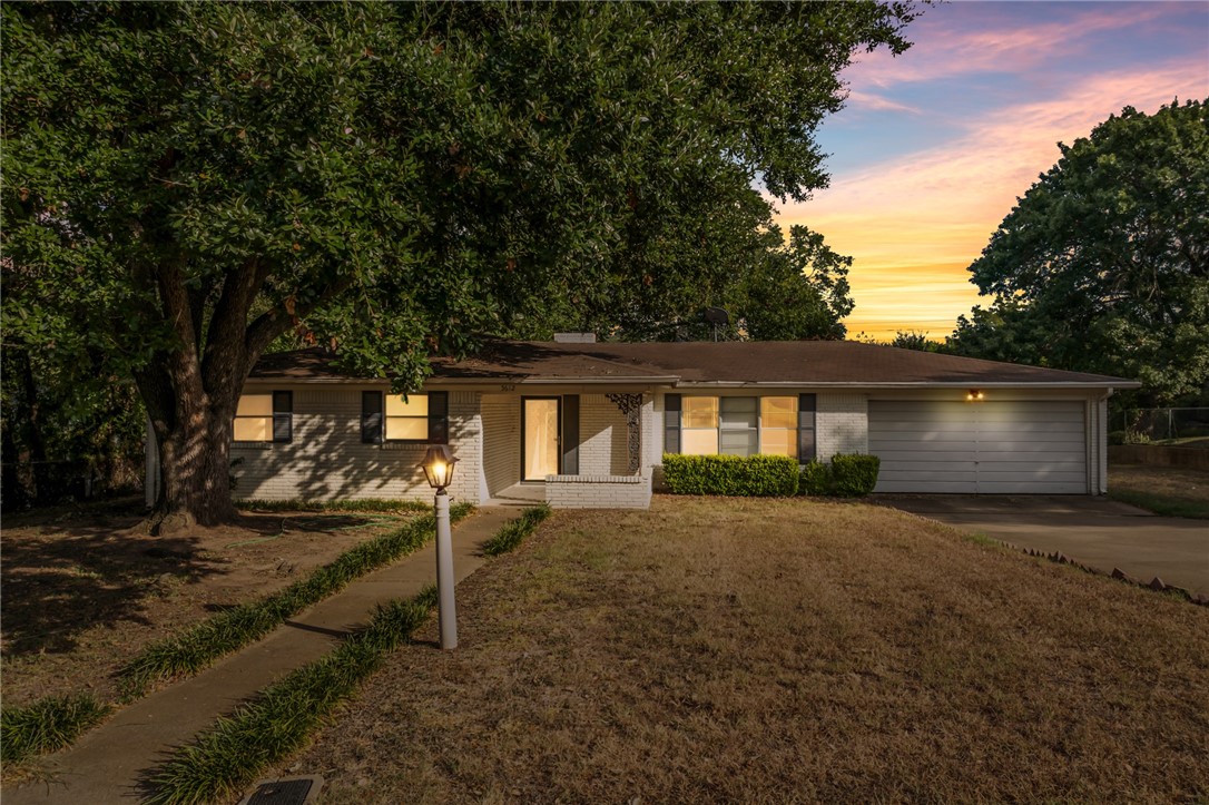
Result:
<svg viewBox="0 0 1209 805"><path fill-rule="evenodd" d="M0 712L0 760L21 763L35 754L62 749L104 719L110 710L110 705L88 694L47 696L27 707L5 707Z"/></svg>

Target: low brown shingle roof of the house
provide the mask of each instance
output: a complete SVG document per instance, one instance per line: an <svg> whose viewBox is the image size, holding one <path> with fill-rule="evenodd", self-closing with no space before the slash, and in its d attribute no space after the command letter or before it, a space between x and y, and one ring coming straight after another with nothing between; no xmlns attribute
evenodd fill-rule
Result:
<svg viewBox="0 0 1209 805"><path fill-rule="evenodd" d="M265 355L254 378L354 380L322 349ZM499 341L433 360L438 381L783 383L799 386L1099 386L1121 377L941 355L855 341L551 343Z"/></svg>

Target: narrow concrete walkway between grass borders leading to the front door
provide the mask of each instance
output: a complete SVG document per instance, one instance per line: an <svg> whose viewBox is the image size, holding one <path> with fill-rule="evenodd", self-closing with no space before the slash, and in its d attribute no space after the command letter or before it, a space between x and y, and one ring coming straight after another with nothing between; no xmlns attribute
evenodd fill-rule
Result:
<svg viewBox="0 0 1209 805"><path fill-rule="evenodd" d="M480 508L453 526L453 571L461 581L486 562L479 546L516 517L516 508ZM48 758L53 782L5 787L4 805L137 803L139 781L174 748L290 671L332 650L365 626L374 607L411 597L436 581L436 548L363 577L202 673L118 711L75 746Z"/></svg>

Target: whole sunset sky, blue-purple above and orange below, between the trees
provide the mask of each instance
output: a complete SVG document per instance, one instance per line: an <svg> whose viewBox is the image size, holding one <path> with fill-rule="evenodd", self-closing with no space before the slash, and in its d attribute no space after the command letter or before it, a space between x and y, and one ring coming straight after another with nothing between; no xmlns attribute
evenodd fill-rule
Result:
<svg viewBox="0 0 1209 805"><path fill-rule="evenodd" d="M966 267L1017 197L1122 106L1209 98L1209 2L927 8L903 56L864 54L823 123L832 184L780 222L852 255L849 337L943 340L978 297Z"/></svg>

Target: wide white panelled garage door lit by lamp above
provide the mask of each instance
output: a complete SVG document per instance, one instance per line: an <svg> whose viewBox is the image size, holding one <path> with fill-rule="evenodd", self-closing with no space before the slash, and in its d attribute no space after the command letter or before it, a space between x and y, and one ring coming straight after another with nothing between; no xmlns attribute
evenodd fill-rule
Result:
<svg viewBox="0 0 1209 805"><path fill-rule="evenodd" d="M1080 401L869 401L877 492L1086 494Z"/></svg>

